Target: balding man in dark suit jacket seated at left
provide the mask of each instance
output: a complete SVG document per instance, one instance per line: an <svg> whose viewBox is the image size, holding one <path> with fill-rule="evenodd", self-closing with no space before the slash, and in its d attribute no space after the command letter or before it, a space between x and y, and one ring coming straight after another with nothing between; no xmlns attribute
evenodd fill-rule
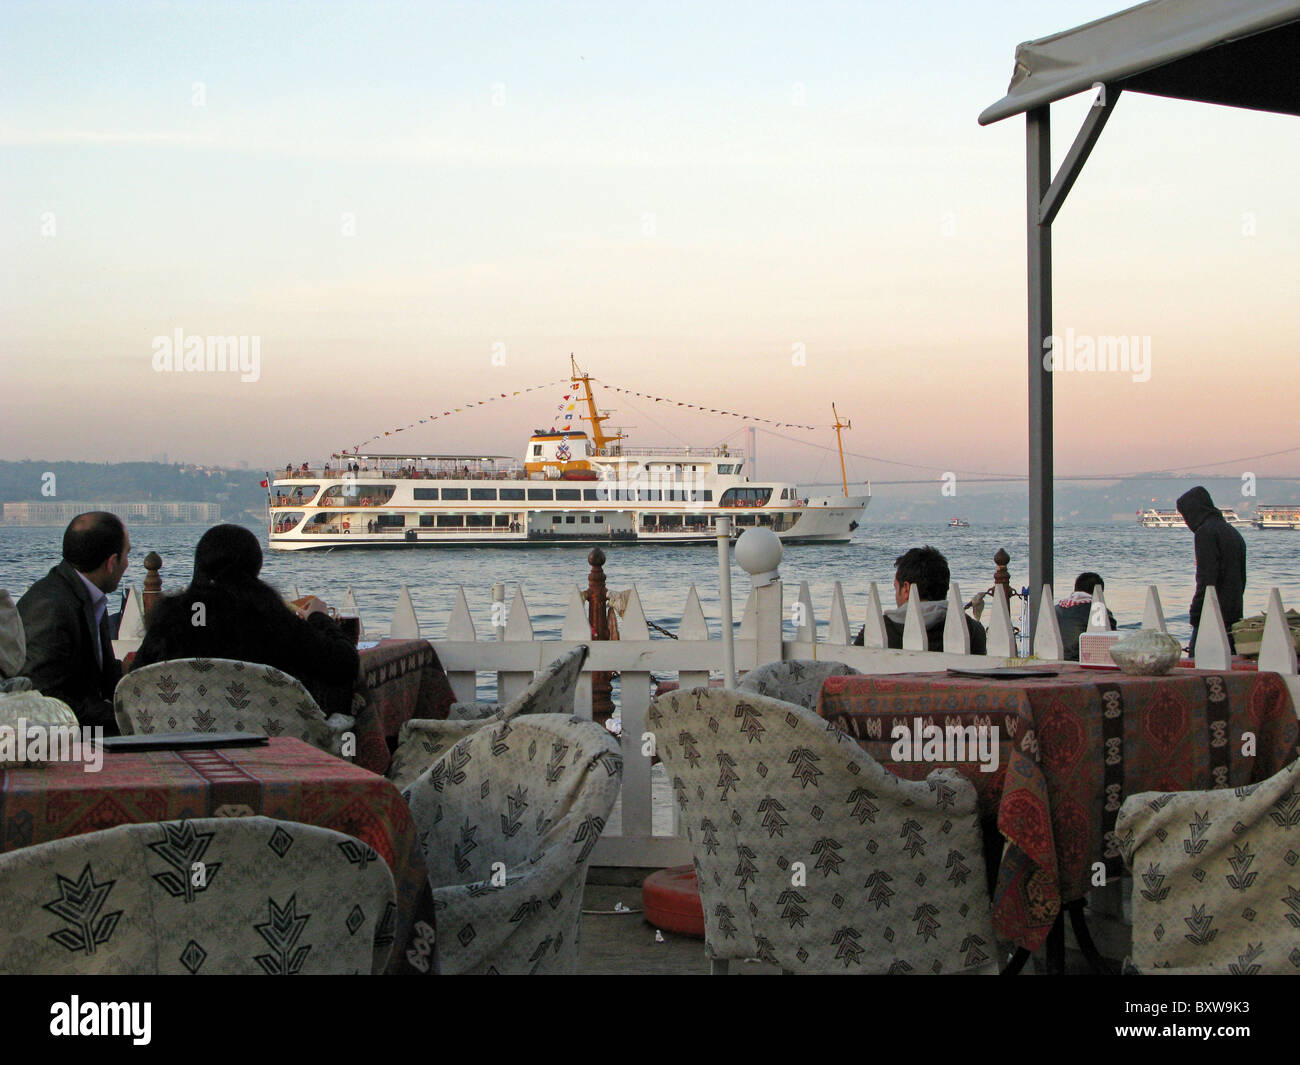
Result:
<svg viewBox="0 0 1300 1065"><path fill-rule="evenodd" d="M114 514L78 514L64 532L64 560L18 599L27 635L22 675L62 700L87 726L117 735L113 689L122 664L108 631L108 593L126 572L131 537Z"/></svg>

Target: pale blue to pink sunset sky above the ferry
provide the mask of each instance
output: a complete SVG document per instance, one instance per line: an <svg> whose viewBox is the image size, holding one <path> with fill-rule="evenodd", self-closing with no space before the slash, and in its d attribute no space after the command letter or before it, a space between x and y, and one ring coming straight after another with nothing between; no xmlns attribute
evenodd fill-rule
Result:
<svg viewBox="0 0 1300 1065"><path fill-rule="evenodd" d="M1119 7L6 0L0 447L521 455L558 388L428 419L572 352L820 427L760 434L764 476L837 476L832 402L854 479L1023 473L1024 122L976 118L1018 42ZM1053 107L1057 160L1089 103ZM1144 338L1149 376L1056 375L1058 473L1300 443L1296 121L1121 99L1054 226L1056 328ZM178 329L256 372L159 369ZM745 443L599 398L634 443Z"/></svg>

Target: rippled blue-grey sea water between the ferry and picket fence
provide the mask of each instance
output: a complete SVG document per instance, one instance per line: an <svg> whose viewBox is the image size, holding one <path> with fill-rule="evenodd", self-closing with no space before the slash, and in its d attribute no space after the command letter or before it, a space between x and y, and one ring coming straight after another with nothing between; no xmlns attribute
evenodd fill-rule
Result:
<svg viewBox="0 0 1300 1065"><path fill-rule="evenodd" d="M252 528L252 527L251 527ZM254 529L263 538L265 529ZM131 564L124 579L140 586L144 555L157 551L162 558L164 590L179 590L194 567L194 545L203 534L194 525L135 525L131 528ZM1242 529L1247 544L1245 614L1264 612L1269 588L1282 592L1287 607L1300 609L1300 532ZM58 562L61 528L0 527L0 588L17 598L36 579ZM930 544L941 550L952 576L961 585L962 598L988 590L996 568L993 554L1005 547L1011 557L1009 571L1013 589L1028 585L1028 525L972 524L963 529L922 523L872 521L870 511L852 544L785 546L780 564L785 583L785 629L793 638L790 610L801 581L807 581L812 612L824 632L831 611L835 583L844 590L849 625L855 633L866 618L867 588L876 583L881 605L893 602L894 559L913 546ZM625 545L602 547L604 573L611 592L636 588L646 619L676 632L686 593L692 584L699 594L710 632L719 628L718 550L712 545ZM520 586L528 603L533 632L538 638L559 635L569 592L586 588L590 564L589 546L555 547L337 547L309 551L265 551L263 579L281 592L296 586L299 594L315 594L338 606L347 589L354 596L373 638L387 632L389 619L404 584L426 637L442 638L455 602L456 586L465 589L469 610L480 638L490 638L493 584L506 585L506 601ZM1056 529L1057 598L1074 588L1075 576L1093 570L1106 583L1106 605L1119 629L1141 627L1147 585L1160 589L1165 619L1171 635L1184 644L1191 638L1188 606L1196 588L1192 533L1183 529L1144 529L1136 523L1058 524ZM748 576L733 564L733 614L738 623L749 594ZM113 610L118 609L114 602ZM1011 603L1011 620L1023 624L1023 601ZM984 620L988 622L985 612ZM658 633L651 632L651 636Z"/></svg>

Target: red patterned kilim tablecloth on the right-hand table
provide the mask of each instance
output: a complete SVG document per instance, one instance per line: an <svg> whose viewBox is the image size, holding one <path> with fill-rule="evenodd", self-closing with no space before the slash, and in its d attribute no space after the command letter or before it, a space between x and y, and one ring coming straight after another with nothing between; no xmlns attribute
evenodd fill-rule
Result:
<svg viewBox="0 0 1300 1065"><path fill-rule="evenodd" d="M993 927L1031 951L1062 902L1092 888L1095 863L1108 878L1123 873L1114 827L1126 796L1264 780L1296 758L1300 737L1291 696L1271 672L1140 677L1065 664L1058 676L1014 680L837 676L823 685L818 713L904 779L949 766L975 785L1008 844ZM918 720L922 730L994 728L997 771L982 771L968 752L953 761L894 758L894 728L910 736Z"/></svg>

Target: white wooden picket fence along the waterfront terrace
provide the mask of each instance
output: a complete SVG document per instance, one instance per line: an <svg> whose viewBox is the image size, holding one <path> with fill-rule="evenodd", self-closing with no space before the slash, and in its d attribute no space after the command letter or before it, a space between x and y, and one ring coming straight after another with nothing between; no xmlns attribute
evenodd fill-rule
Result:
<svg viewBox="0 0 1300 1065"><path fill-rule="evenodd" d="M296 590L290 590L296 596ZM495 590L499 596L499 585ZM1101 596L1097 597L1104 607ZM499 599L498 599L499 602ZM907 605L904 625L904 649L885 646L884 614L876 584L867 592L864 619L864 646L853 646L857 627L850 625L844 605L841 584L836 581L831 598L828 624L819 637L819 625L812 609L809 585L801 584L792 605L790 616L797 622L794 638L783 635L785 614L784 589L774 581L753 588L745 605L738 632L734 637L737 671L745 671L767 662L792 658L811 658L844 662L864 674L941 672L948 668L989 668L1014 666L1027 659L1017 655L1015 632L1004 589L997 586L988 619L988 654L971 655L970 633L963 622L963 601L956 583L948 593L948 620L944 629L942 650L927 649L926 627L915 594ZM1050 588L1043 589L1043 609L1037 615L1035 632L1035 661L1060 661L1061 632L1057 627ZM356 601L351 590L341 607L343 614L356 614ZM633 586L619 628L620 638L595 642L577 586L569 594L564 622L558 638L538 640L533 631L532 615L521 588L516 586L508 611L498 607L491 612L503 624L494 625L491 637L480 638L474 628L464 588L458 588L447 632L443 638L433 638L438 658L451 681L458 700L476 698L480 674L497 675L498 700L504 702L519 694L533 676L551 661L578 644L590 648L582 676L578 680L576 713L592 717L592 674L618 672L620 675L620 718L623 724L624 778L621 819L619 830L610 830L597 847L594 862L603 866L663 867L685 865L690 850L677 835L655 835L653 819L651 759L642 757L646 739L646 711L650 706L653 677L676 680L682 688L707 684L711 674L722 674L724 663L723 640L711 636L708 623L699 605L694 585L686 594L685 609L677 624L677 638L651 638L641 599ZM1093 610L1089 631L1098 623L1105 625L1105 610ZM364 619L363 619L364 628ZM1152 585L1147 592L1143 628L1165 629L1160 593ZM143 636L143 615L139 598L133 592L122 619L118 655L139 645ZM1109 629L1108 629L1109 631ZM402 585L393 611L389 635L420 638L420 623L411 602L411 593ZM1196 666L1226 670L1230 661L1227 631L1218 599L1210 589L1205 597L1200 633L1196 644ZM1284 675L1292 701L1300 705L1300 676L1296 653L1282 609L1282 597L1274 588L1269 594L1268 623L1260 651L1260 668ZM673 827L676 821L673 819Z"/></svg>

